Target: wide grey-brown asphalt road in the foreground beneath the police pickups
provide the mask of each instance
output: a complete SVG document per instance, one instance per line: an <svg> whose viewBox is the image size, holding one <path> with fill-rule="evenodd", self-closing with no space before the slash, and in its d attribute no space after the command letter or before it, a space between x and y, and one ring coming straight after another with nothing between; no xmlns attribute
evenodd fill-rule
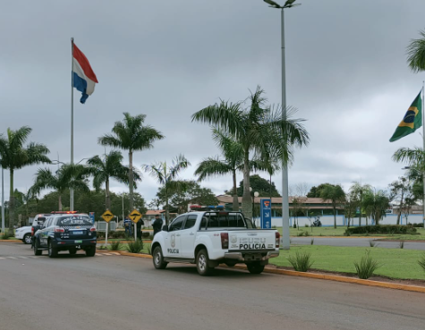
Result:
<svg viewBox="0 0 425 330"><path fill-rule="evenodd" d="M123 256L33 257L0 243L0 328L423 329L425 294ZM11 258L12 257L12 258Z"/></svg>

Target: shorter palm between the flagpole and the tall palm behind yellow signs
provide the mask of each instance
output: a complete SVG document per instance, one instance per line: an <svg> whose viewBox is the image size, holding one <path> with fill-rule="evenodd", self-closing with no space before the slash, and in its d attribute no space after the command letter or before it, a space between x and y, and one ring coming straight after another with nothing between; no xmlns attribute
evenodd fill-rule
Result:
<svg viewBox="0 0 425 330"><path fill-rule="evenodd" d="M113 150L102 159L98 156L91 157L87 161L89 170L93 174L93 187L98 191L100 186L105 183L106 190L106 208L111 209L111 199L109 194L109 182L113 178L118 182L127 183L129 181L129 168L122 164L123 155L120 151ZM134 188L137 188L136 182L141 180L140 174L133 168Z"/></svg>

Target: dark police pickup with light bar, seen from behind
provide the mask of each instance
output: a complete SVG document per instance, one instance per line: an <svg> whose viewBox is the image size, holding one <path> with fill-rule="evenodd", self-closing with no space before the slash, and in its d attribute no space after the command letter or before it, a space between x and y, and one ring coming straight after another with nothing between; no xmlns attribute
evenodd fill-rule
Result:
<svg viewBox="0 0 425 330"><path fill-rule="evenodd" d="M86 214L59 214L47 218L34 236L34 254L40 256L48 250L48 256L55 258L59 251L70 254L85 250L87 257L96 253L96 228Z"/></svg>

